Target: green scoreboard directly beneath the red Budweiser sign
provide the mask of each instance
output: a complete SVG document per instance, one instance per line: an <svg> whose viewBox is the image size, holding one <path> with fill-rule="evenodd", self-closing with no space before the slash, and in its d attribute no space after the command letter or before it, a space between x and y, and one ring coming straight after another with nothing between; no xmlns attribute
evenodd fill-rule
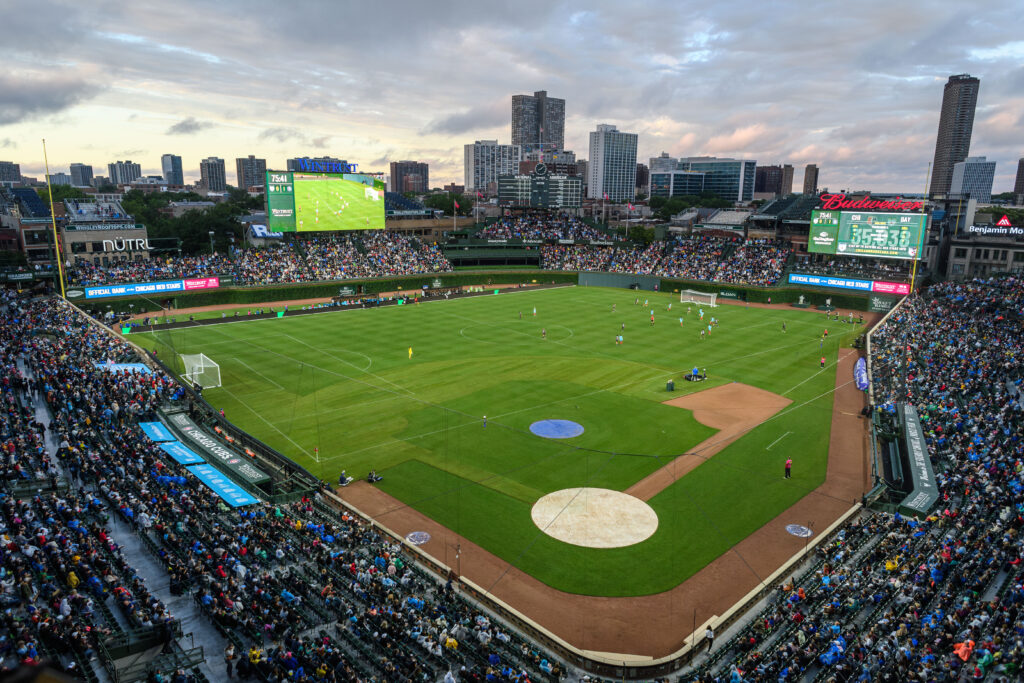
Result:
<svg viewBox="0 0 1024 683"><path fill-rule="evenodd" d="M871 211L811 212L807 251L815 254L913 259L921 256L927 216Z"/></svg>

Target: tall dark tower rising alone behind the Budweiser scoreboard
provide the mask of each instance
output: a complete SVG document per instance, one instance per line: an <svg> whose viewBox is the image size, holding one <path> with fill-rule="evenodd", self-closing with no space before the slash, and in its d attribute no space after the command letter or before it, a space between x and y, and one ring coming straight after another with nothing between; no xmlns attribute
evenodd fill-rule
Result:
<svg viewBox="0 0 1024 683"><path fill-rule="evenodd" d="M942 114L935 138L935 161L929 194L949 194L953 165L967 159L971 151L974 110L978 104L980 81L969 74L950 76L942 90Z"/></svg>

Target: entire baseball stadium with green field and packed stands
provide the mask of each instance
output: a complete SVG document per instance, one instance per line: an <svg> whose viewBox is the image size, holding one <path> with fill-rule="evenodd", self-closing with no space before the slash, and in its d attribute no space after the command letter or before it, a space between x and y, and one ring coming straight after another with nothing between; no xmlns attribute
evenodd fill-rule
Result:
<svg viewBox="0 0 1024 683"><path fill-rule="evenodd" d="M392 222L4 290L8 601L68 587L20 637L125 681L220 680L220 651L261 680L897 680L867 643L925 636L1016 671L1020 282L918 281L923 231L815 255L817 210Z"/></svg>

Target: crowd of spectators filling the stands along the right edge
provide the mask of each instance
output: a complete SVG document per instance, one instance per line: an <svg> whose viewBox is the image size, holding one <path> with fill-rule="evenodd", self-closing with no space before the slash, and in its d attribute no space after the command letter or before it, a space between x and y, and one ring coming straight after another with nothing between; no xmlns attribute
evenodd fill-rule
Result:
<svg viewBox="0 0 1024 683"><path fill-rule="evenodd" d="M939 508L848 525L689 680L1019 680L1022 312L1019 280L949 283L876 331L876 400L916 407Z"/></svg>

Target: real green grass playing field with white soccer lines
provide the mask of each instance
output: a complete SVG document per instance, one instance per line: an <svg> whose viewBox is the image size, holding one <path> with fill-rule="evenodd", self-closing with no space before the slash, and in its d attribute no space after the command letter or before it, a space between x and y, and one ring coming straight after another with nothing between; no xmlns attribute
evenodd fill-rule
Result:
<svg viewBox="0 0 1024 683"><path fill-rule="evenodd" d="M701 341L697 306L686 313L678 295L641 293L655 312L651 327L650 309L635 297L598 288L505 292L132 339L165 358L206 353L223 382L205 392L210 402L325 479L374 468L381 488L552 587L646 595L678 585L824 479L830 364L861 330L833 324L841 329L822 349L820 314L723 305L708 309L721 325ZM708 369L710 382L678 381L694 365ZM666 391L670 378L675 394ZM545 494L625 489L712 436L689 412L662 401L733 381L793 403L654 496L659 525L651 538L587 549L532 523L530 508ZM586 432L566 440L530 433L532 422L549 418ZM784 480L788 457L794 478Z"/></svg>

